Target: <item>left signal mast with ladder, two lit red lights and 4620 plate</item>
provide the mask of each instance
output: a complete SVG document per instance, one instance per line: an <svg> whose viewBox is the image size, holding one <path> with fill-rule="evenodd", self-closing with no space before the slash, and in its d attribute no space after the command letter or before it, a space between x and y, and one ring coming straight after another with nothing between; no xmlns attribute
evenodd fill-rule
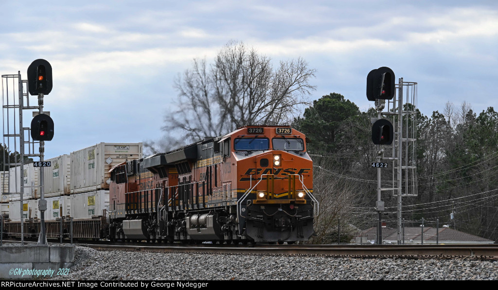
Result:
<svg viewBox="0 0 498 290"><path fill-rule="evenodd" d="M14 162L10 158L3 156L4 168L19 166L20 172L23 172L24 156L40 157L40 164L43 164L43 155L45 151L45 141L52 140L54 136L54 122L49 116L50 112L43 112L43 96L48 95L52 90L52 66L44 59L37 59L33 61L27 69L27 80L21 79L20 71L17 74L2 75L2 115L3 115L3 143L7 144L9 151L14 154ZM38 106L29 105L29 95L24 92L24 88L30 95L38 96ZM23 127L22 112L24 110L38 110L33 112L33 120L31 126L28 128ZM16 120L18 116L18 120ZM14 122L11 122L14 121ZM27 136L26 136L26 133ZM29 138L31 137L31 138ZM7 142L5 142L5 139ZM25 141L27 139L27 141ZM10 146L11 141L13 148ZM39 153L34 152L35 144L39 143ZM20 160L17 160L17 144L19 144ZM27 147L27 153L25 148ZM43 166L43 165L42 165ZM19 188L17 183L14 186L7 185L9 193L19 194L20 200L20 228L21 228L21 242L24 240L23 233L23 193L25 187L40 187L41 199L38 202L40 210L40 236L39 243L46 244L46 230L45 230L45 211L47 209L47 201L44 199L43 187L43 170L40 170L39 186L34 184L24 185L23 174L17 176L17 170L14 170L15 180L20 179ZM10 178L8 178L10 183ZM12 192L11 188L15 188ZM19 191L18 191L19 190Z"/></svg>

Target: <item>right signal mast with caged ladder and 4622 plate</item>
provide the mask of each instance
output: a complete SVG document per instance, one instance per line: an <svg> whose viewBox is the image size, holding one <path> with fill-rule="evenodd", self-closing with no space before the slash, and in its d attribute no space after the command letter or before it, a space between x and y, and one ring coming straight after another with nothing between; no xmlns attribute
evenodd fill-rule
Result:
<svg viewBox="0 0 498 290"><path fill-rule="evenodd" d="M372 142L377 145L376 162L372 162L372 167L377 168L375 206L378 215L377 244L382 244L382 213L385 211L382 191L391 191L397 197L398 244L401 244L402 237L402 196L417 195L415 155L417 83L403 82L403 78L400 78L396 90L394 80L394 72L388 67L373 69L367 75L367 99L375 102L378 113L377 118L372 118ZM403 103L404 91L406 91L406 101ZM386 111L382 112L384 109ZM382 119L382 115L386 119ZM389 163L391 163L392 178L382 180L382 170L389 170L385 169L389 167ZM382 184L382 181L387 184Z"/></svg>

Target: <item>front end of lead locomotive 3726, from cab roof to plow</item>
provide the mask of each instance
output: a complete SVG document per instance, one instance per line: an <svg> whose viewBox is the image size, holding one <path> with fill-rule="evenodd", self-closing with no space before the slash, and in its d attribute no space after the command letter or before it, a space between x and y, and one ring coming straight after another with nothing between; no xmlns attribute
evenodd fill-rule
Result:
<svg viewBox="0 0 498 290"><path fill-rule="evenodd" d="M255 242L306 241L318 202L305 136L290 127L244 127L232 134L239 232Z"/></svg>

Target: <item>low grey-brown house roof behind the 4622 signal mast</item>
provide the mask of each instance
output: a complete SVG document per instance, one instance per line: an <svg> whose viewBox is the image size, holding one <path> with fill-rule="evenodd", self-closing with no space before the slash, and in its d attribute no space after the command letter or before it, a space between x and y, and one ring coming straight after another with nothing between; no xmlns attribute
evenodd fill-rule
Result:
<svg viewBox="0 0 498 290"><path fill-rule="evenodd" d="M424 241L436 241L436 228L423 227ZM382 228L382 240L397 241L398 231L395 228ZM375 240L377 236L377 228L370 228L360 234L361 237L367 237L368 240ZM405 227L404 228L405 241L412 240L413 242L420 242L422 239L422 227ZM460 232L450 228L439 228L439 242L493 242L485 238Z"/></svg>

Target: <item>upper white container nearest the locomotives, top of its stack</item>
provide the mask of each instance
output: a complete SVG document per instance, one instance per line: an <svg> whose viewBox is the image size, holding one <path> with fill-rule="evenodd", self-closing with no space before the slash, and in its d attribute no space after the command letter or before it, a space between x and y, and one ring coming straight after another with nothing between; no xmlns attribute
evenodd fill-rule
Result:
<svg viewBox="0 0 498 290"><path fill-rule="evenodd" d="M109 170L141 157L141 143L99 143L71 152L71 193L109 189Z"/></svg>

